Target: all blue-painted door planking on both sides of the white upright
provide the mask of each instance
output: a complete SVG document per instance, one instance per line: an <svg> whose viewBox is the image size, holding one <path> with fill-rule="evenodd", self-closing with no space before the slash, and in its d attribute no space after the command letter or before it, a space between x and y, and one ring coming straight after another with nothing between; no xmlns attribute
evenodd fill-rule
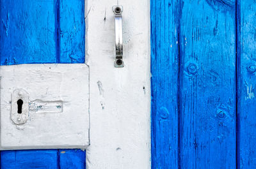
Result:
<svg viewBox="0 0 256 169"><path fill-rule="evenodd" d="M0 2L1 65L84 62L84 1ZM150 5L152 168L256 168L256 2ZM1 168L85 168L85 152L1 151Z"/></svg>

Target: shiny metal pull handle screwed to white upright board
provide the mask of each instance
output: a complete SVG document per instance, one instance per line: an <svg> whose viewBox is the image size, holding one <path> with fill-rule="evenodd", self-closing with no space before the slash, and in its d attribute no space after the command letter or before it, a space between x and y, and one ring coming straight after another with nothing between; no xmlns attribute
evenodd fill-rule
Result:
<svg viewBox="0 0 256 169"><path fill-rule="evenodd" d="M114 66L116 68L124 67L123 61L123 27L122 27L122 11L123 6L113 6L115 13L115 38L116 38L116 60Z"/></svg>

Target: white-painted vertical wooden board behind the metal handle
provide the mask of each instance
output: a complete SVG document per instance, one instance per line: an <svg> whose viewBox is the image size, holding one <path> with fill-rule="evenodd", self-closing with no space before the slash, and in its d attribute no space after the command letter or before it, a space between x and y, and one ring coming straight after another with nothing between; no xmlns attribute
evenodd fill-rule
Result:
<svg viewBox="0 0 256 169"><path fill-rule="evenodd" d="M115 68L115 18L124 11L124 68ZM150 168L150 1L87 0L88 169Z"/></svg>

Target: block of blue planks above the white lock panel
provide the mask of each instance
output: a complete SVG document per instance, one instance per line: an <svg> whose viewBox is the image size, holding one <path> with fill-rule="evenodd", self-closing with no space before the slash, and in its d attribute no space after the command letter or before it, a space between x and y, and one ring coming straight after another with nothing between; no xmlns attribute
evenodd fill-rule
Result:
<svg viewBox="0 0 256 169"><path fill-rule="evenodd" d="M84 1L0 1L0 64L84 62Z"/></svg>

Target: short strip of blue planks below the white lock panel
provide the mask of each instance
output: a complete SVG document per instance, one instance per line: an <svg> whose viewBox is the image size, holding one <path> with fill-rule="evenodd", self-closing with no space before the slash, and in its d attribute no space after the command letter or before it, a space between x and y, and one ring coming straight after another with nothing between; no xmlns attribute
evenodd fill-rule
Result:
<svg viewBox="0 0 256 169"><path fill-rule="evenodd" d="M2 169L84 169L85 152L81 150L1 151Z"/></svg>

